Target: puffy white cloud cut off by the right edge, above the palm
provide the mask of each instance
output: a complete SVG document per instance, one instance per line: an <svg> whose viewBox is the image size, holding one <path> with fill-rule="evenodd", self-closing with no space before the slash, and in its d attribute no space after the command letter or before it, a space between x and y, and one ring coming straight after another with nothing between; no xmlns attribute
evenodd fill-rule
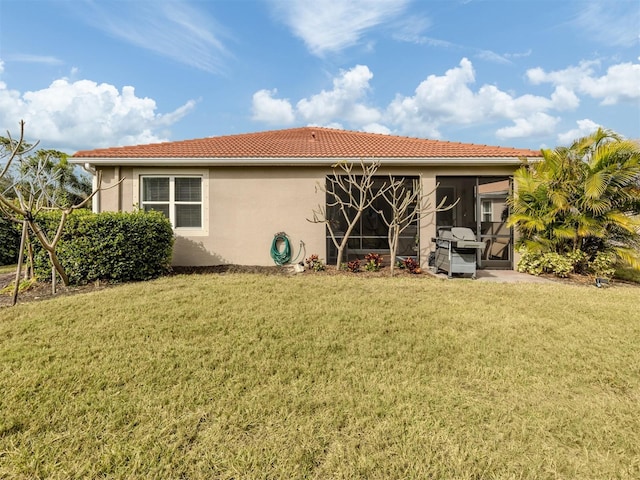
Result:
<svg viewBox="0 0 640 480"><path fill-rule="evenodd" d="M602 105L640 100L640 63L611 65L602 76L597 76L599 62L584 61L563 70L545 72L542 68L527 71L527 78L534 85L551 83L576 90L592 98L601 99Z"/></svg>

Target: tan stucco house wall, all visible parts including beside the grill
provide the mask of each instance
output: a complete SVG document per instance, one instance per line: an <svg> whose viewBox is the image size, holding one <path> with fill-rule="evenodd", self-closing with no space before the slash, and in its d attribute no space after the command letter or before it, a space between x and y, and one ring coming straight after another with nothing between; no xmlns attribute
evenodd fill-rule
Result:
<svg viewBox="0 0 640 480"><path fill-rule="evenodd" d="M103 187L121 185L100 192L100 211L131 211L136 208L137 177L144 173L187 173L181 168L103 167ZM435 207L436 177L440 175L511 175L509 167L420 167L381 168L378 175L419 176L424 192L433 193ZM206 232L198 235L176 234L174 265L273 265L270 256L274 234L285 232L292 256L304 260L312 253L326 260L325 227L307 221L313 209L324 205L324 192L317 188L331 172L322 167L211 167L193 171L206 172ZM435 214L420 221L420 259L427 266L436 236ZM304 243L301 249L300 242Z"/></svg>

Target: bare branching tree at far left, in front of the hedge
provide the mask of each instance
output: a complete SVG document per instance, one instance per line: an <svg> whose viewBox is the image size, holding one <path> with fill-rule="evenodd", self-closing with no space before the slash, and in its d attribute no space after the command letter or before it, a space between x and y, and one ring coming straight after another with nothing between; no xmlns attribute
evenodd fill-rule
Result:
<svg viewBox="0 0 640 480"><path fill-rule="evenodd" d="M17 140L8 134L8 142L5 145L5 155L7 162L0 169L0 178L7 176L14 161L21 162L22 156L32 150L37 144L24 147L24 121L20 122L20 137ZM65 204L57 197L58 188L52 188L59 184L57 173L47 168L48 156L41 156L29 168L19 168L15 176L14 183L9 189L0 192L0 213L3 213L10 220L22 224L22 238L20 243L20 253L18 258L18 268L16 271L16 286L14 291L13 304L16 303L18 295L18 285L22 268L22 257L27 240L28 232L31 231L46 250L52 265L52 290L56 290L56 272L60 275L63 284L69 285L69 277L65 272L56 254L56 246L60 241L64 225L68 216L77 209L86 206L91 199L100 191L101 176L98 173L98 188L88 195L84 200L75 204ZM11 191L10 198L8 192ZM57 210L60 212L60 221L55 233L50 238L41 228L37 216L43 210Z"/></svg>

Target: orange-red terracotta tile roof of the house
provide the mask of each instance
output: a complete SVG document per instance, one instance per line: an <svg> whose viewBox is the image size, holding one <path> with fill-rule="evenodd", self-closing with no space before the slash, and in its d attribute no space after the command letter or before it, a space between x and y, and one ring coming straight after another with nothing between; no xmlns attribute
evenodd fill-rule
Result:
<svg viewBox="0 0 640 480"><path fill-rule="evenodd" d="M75 158L471 158L539 157L509 147L445 142L323 127L83 150Z"/></svg>

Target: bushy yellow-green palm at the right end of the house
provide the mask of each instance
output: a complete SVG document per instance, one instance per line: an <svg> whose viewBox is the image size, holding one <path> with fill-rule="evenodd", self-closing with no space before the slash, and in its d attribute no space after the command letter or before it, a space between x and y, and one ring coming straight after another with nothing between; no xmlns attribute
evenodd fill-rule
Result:
<svg viewBox="0 0 640 480"><path fill-rule="evenodd" d="M609 253L640 269L640 145L598 129L542 155L514 175L509 224L524 253Z"/></svg>

